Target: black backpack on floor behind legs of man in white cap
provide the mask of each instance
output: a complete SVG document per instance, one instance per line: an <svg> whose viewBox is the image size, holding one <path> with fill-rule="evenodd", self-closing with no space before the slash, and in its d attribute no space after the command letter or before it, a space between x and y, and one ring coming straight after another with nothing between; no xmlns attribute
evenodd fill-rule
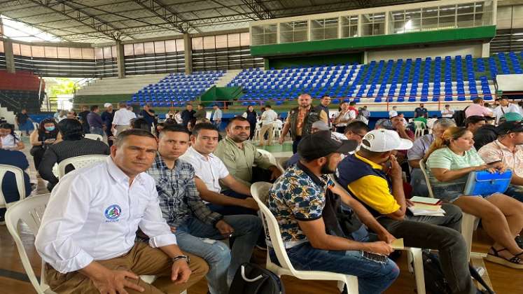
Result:
<svg viewBox="0 0 523 294"><path fill-rule="evenodd" d="M485 289L483 293L494 294L494 291L485 283L480 274L472 265L468 265L472 276ZM452 294L449 283L441 269L440 258L437 254L423 251L423 272L425 275L425 290L429 294Z"/></svg>

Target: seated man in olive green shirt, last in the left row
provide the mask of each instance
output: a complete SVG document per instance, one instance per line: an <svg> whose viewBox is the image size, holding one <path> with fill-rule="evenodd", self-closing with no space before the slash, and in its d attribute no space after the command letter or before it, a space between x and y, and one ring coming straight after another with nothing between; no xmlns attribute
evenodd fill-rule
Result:
<svg viewBox="0 0 523 294"><path fill-rule="evenodd" d="M251 125L245 118L241 116L231 118L226 128L227 137L218 143L218 148L214 151L214 155L223 161L229 174L247 187L251 186L253 179L253 165L270 170L271 180L281 176L278 167L263 157L256 146L247 142L250 128ZM223 184L222 189L225 195L230 190Z"/></svg>

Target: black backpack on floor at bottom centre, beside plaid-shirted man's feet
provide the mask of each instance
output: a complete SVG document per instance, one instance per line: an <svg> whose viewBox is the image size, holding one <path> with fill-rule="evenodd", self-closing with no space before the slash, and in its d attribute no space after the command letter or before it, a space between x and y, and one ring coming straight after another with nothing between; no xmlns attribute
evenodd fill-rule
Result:
<svg viewBox="0 0 523 294"><path fill-rule="evenodd" d="M285 294L279 277L268 269L252 263L239 267L232 279L229 294Z"/></svg>

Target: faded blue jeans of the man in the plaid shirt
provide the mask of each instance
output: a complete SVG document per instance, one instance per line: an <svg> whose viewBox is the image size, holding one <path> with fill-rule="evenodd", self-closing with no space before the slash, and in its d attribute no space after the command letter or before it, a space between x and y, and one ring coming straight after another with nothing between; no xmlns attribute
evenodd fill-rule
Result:
<svg viewBox="0 0 523 294"><path fill-rule="evenodd" d="M209 264L206 277L211 294L229 293L232 278L239 266L251 259L256 239L262 230L261 220L257 216L224 216L223 221L234 229L234 240L230 241L232 249L216 241L224 239L216 228L197 218L188 219L174 233L181 250L198 255Z"/></svg>

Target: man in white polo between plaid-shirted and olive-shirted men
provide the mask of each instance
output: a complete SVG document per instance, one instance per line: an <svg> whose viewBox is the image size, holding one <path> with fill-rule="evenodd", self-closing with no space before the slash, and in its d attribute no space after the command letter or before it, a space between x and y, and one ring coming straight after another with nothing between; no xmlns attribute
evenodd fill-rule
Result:
<svg viewBox="0 0 523 294"><path fill-rule="evenodd" d="M195 169L196 188L209 209L223 216L256 214L258 205L251 196L251 189L231 176L220 158L213 154L218 146L218 130L211 123L200 123L193 128L191 146L181 159ZM230 188L230 193L220 193L220 181Z"/></svg>

